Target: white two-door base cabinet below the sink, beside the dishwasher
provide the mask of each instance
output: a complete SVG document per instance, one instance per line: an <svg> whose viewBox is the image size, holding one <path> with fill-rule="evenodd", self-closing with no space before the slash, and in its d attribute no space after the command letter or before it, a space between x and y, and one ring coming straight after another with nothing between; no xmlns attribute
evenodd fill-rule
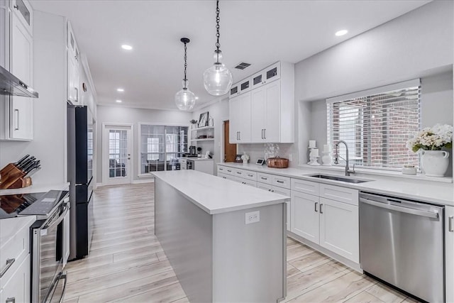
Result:
<svg viewBox="0 0 454 303"><path fill-rule="evenodd" d="M358 190L292 179L291 204L293 233L359 263Z"/></svg>

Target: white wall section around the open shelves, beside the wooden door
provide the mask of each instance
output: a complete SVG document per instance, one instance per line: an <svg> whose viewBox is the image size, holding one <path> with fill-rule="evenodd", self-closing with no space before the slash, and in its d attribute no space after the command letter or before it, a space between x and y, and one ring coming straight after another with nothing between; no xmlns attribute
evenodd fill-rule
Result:
<svg viewBox="0 0 454 303"><path fill-rule="evenodd" d="M194 110L192 119L199 121L200 114L208 111L209 116L214 119L214 141L199 141L191 145L200 147L202 155L206 150L210 151L214 160L214 173L216 172L216 163L223 160L223 121L228 120L228 98L223 97L211 102L208 106Z"/></svg>

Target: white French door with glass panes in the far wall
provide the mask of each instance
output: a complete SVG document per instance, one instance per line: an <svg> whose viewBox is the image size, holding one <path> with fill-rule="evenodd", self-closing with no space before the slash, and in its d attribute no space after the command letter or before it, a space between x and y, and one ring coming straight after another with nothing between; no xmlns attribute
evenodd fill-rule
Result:
<svg viewBox="0 0 454 303"><path fill-rule="evenodd" d="M133 126L104 124L102 147L102 183L130 184L133 174Z"/></svg>

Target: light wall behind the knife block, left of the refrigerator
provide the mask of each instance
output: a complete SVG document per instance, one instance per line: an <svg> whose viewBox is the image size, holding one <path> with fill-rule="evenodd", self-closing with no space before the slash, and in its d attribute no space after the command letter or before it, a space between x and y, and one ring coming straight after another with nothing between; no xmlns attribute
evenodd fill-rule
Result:
<svg viewBox="0 0 454 303"><path fill-rule="evenodd" d="M34 184L63 184L67 180L66 153L66 26L65 19L34 11L33 70L39 93L34 105L34 139L0 142L0 167L31 154L42 169Z"/></svg>

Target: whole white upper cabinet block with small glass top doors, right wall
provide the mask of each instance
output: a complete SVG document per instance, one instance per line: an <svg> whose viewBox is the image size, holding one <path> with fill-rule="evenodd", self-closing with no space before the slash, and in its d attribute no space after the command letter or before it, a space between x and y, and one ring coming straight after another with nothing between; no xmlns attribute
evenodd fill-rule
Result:
<svg viewBox="0 0 454 303"><path fill-rule="evenodd" d="M294 65L277 62L238 82L238 89L242 83L250 92L229 100L230 142L294 143ZM243 96L248 111L236 105Z"/></svg>

